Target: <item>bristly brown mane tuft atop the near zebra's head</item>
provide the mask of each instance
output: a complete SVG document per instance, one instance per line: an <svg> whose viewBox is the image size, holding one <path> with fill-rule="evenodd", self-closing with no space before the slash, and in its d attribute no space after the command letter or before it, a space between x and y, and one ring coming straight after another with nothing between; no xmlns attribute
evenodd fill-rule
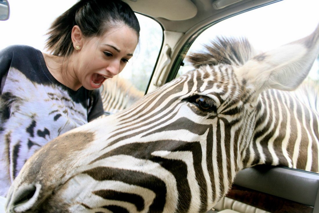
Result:
<svg viewBox="0 0 319 213"><path fill-rule="evenodd" d="M245 37L216 37L215 41L205 44L203 52L193 52L187 56L194 67L203 65L229 64L240 66L256 55L256 50Z"/></svg>

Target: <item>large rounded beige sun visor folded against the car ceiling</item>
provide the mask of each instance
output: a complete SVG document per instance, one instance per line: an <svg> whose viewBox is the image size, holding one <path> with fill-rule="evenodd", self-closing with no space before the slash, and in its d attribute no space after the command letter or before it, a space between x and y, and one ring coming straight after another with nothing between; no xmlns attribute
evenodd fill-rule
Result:
<svg viewBox="0 0 319 213"><path fill-rule="evenodd" d="M135 12L168 20L187 20L197 14L197 7L190 0L123 0Z"/></svg>

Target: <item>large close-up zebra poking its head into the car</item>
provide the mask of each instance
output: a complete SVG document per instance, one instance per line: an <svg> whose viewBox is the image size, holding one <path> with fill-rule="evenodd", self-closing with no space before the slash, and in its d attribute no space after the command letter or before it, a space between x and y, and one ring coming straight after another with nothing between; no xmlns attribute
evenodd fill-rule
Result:
<svg viewBox="0 0 319 213"><path fill-rule="evenodd" d="M43 146L6 212L205 212L244 168L317 172L318 112L292 91L318 55L319 25L257 55L223 41L191 55L193 71Z"/></svg>

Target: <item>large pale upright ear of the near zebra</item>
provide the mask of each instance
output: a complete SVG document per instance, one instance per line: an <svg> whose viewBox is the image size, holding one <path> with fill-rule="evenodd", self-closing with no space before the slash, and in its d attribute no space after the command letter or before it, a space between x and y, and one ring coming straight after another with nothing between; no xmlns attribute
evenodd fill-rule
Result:
<svg viewBox="0 0 319 213"><path fill-rule="evenodd" d="M318 52L319 24L311 35L259 54L235 73L257 94L270 88L291 91L306 78Z"/></svg>

